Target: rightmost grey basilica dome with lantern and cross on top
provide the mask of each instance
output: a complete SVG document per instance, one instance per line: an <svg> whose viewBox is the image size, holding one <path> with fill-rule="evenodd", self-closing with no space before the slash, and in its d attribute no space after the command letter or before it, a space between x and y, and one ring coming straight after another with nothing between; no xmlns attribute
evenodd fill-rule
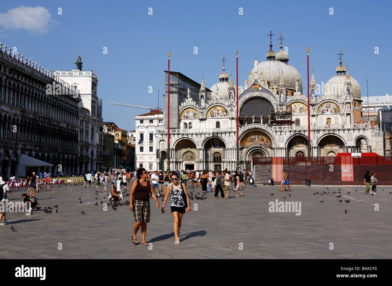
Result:
<svg viewBox="0 0 392 286"><path fill-rule="evenodd" d="M344 97L344 87L345 85L351 85L351 94L354 100L361 100L361 87L358 81L352 78L342 61L340 60L340 65L336 67L336 76L333 76L328 80L328 85L324 85L323 94L327 94L329 88L331 94L338 94L338 98Z"/></svg>

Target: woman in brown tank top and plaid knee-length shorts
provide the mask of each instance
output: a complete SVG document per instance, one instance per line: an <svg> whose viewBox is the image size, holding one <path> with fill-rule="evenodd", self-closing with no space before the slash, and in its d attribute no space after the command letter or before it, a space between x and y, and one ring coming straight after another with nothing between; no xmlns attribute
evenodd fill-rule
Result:
<svg viewBox="0 0 392 286"><path fill-rule="evenodd" d="M152 185L147 181L147 171L145 168L138 168L136 171L136 181L131 186L131 204L129 209L133 211L135 224L133 226L133 244L137 244L136 233L140 226L142 227L142 244L148 245L146 242L147 223L150 222L150 194L154 201L156 201L156 208L159 208L159 202L156 198L155 192L152 190Z"/></svg>

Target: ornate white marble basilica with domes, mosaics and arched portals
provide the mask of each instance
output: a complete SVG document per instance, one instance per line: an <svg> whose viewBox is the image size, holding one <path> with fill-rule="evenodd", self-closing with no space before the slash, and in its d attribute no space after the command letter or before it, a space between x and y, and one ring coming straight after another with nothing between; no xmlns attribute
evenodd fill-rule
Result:
<svg viewBox="0 0 392 286"><path fill-rule="evenodd" d="M275 53L270 43L266 60L256 58L245 88L238 97L239 161L252 169L252 157L336 156L339 152L376 152L384 155L383 134L361 121L361 88L342 57L336 75L317 96L312 74L310 92L310 143L307 95L289 55ZM171 169L235 170L236 87L225 72L206 91L202 79L198 100L188 96L178 108L178 128L170 130ZM305 89L306 91L306 89ZM307 91L306 91L307 92ZM173 107L170 107L171 110ZM164 115L165 116L165 115ZM167 128L158 129L157 163L167 158ZM163 160L166 169L167 160Z"/></svg>

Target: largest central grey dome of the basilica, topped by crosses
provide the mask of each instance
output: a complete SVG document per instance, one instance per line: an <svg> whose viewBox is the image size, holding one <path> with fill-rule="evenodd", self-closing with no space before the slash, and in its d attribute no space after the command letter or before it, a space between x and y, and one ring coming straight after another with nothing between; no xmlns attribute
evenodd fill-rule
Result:
<svg viewBox="0 0 392 286"><path fill-rule="evenodd" d="M270 87L274 87L275 85L279 87L283 72L286 89L295 91L295 83L297 80L299 80L298 91L302 92L301 75L295 67L287 64L288 61L289 54L284 52L282 49L277 54L275 54L275 52L272 50L272 43L270 43L270 50L267 52L267 60L257 63L257 66L252 69L248 78L248 85L253 83L254 80L252 79L254 79L254 71L257 69L258 78L260 78L259 81L265 82L265 80L268 79ZM261 72L263 74L261 74Z"/></svg>

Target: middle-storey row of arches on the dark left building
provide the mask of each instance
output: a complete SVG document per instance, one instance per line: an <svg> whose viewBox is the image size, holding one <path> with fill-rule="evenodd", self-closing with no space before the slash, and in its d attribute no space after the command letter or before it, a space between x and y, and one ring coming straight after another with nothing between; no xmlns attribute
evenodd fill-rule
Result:
<svg viewBox="0 0 392 286"><path fill-rule="evenodd" d="M75 131L1 113L0 138L55 147L78 148L78 133Z"/></svg>

